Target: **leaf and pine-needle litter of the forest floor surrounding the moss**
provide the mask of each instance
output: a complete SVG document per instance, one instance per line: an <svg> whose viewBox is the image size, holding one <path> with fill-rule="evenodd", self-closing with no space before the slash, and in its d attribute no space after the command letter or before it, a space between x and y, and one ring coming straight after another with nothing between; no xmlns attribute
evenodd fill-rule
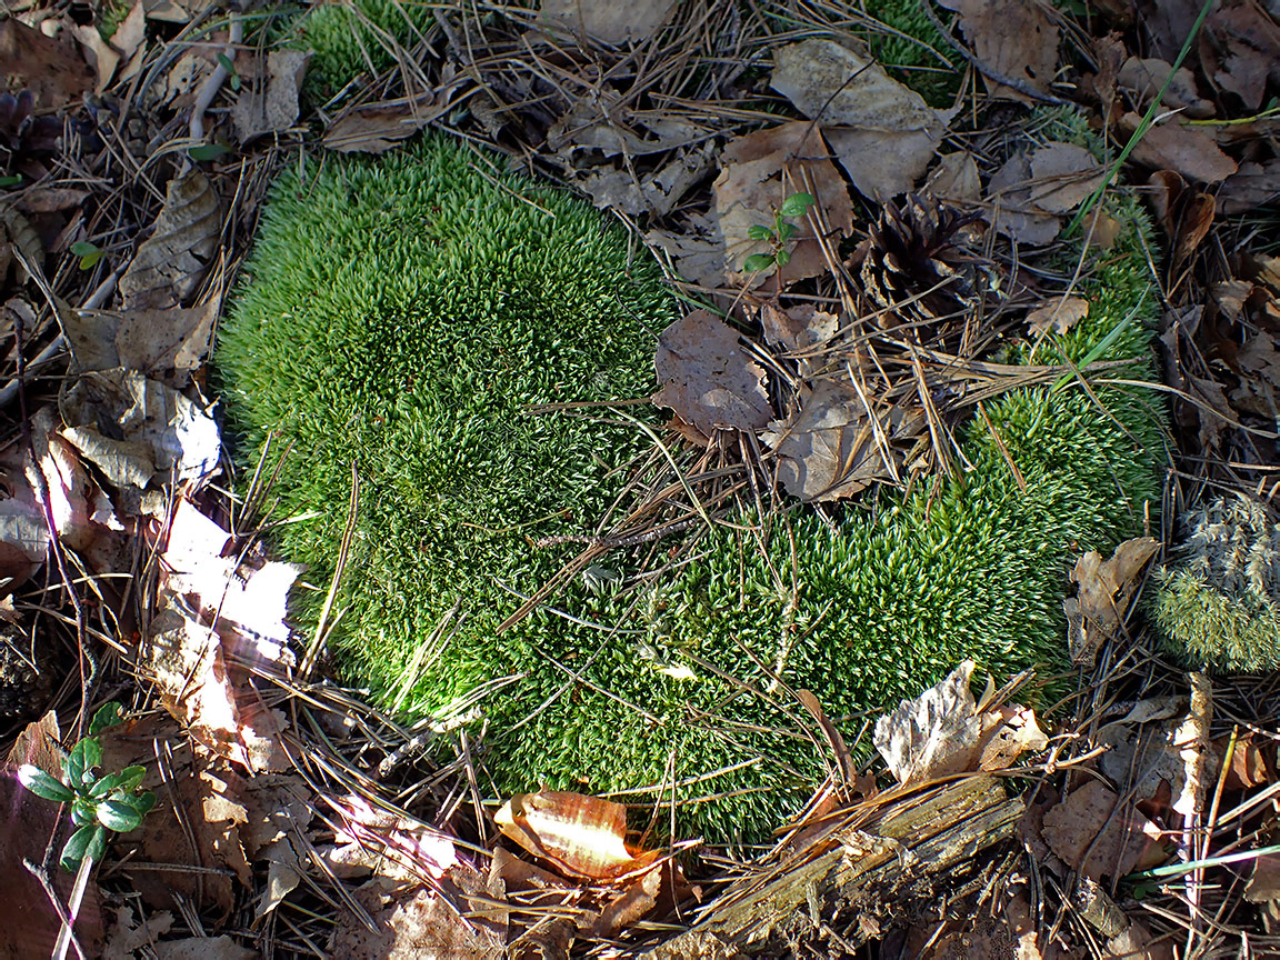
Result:
<svg viewBox="0 0 1280 960"><path fill-rule="evenodd" d="M0 954L1280 954L1280 675L1188 669L1138 603L1184 511L1280 508L1276 6L908 6L928 41L842 0L436 3L370 27L370 69L324 97L298 35L264 28L297 10L8 3L0 890L20 919ZM963 232L1000 296L961 305L959 339L916 340L933 353L906 374L861 381L878 422L915 424L893 452L835 403L805 408L831 443L780 447L773 476L814 504L955 468L941 398L1089 389L1105 365L1015 383L968 324L1066 333L1123 228L1103 200L1140 196L1167 483L1147 536L1064 585L1075 695L1033 712L1021 676L975 700L957 663L882 718L863 768L808 695L832 772L776 844L643 850L617 804L483 796L468 733L424 759L421 731L326 678L285 626L296 571L232 495L206 361L282 166L424 129L504 151L659 257L696 308L663 334L694 361L659 365L657 399L722 479L755 468L786 410L767 367L819 396L805 351L850 316L934 307ZM1046 266L1064 250L1074 276ZM754 333L726 339L716 312ZM785 433L819 431L799 416ZM22 764L87 780L59 806ZM86 824L69 870L68 812Z"/></svg>

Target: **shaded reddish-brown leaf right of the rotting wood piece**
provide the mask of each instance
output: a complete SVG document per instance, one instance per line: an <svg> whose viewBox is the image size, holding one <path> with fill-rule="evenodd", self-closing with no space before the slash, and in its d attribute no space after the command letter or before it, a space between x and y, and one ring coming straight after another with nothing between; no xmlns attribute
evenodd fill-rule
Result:
<svg viewBox="0 0 1280 960"><path fill-rule="evenodd" d="M1160 828L1128 804L1116 810L1116 801L1111 787L1091 780L1044 814L1041 836L1068 867L1094 881L1132 873L1152 847L1164 858Z"/></svg>

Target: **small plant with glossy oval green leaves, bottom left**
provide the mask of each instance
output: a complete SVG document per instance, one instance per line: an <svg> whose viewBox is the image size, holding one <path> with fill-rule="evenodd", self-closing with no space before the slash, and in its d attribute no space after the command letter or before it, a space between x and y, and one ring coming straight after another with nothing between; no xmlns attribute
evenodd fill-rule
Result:
<svg viewBox="0 0 1280 960"><path fill-rule="evenodd" d="M156 804L150 790L137 791L146 776L146 767L125 767L119 773L100 774L102 744L97 733L120 722L120 704L105 704L88 724L88 736L81 740L63 760L63 780L54 780L29 763L18 768L18 781L36 796L56 804L70 804L72 833L59 865L74 873L82 860L99 860L106 850L106 831L128 833L137 829L142 818Z"/></svg>

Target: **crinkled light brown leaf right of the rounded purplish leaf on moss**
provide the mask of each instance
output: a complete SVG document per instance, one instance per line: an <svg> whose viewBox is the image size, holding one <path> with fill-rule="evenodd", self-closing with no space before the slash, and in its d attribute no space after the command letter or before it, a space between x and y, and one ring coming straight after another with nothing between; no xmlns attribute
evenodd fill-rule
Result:
<svg viewBox="0 0 1280 960"><path fill-rule="evenodd" d="M800 410L760 431L778 456L778 479L805 503L852 497L890 475L858 393L822 379L801 388ZM892 435L891 424L884 425Z"/></svg>

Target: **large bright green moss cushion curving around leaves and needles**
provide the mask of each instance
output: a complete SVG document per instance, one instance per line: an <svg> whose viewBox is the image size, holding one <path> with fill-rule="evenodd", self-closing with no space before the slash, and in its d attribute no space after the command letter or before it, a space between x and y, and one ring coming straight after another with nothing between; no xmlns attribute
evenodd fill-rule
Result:
<svg viewBox="0 0 1280 960"><path fill-rule="evenodd" d="M960 480L882 494L874 516L850 506L835 524L795 506L763 550L737 516L659 575L614 550L599 561L611 576L576 579L498 634L580 549L531 539L594 531L652 452L591 404L653 393L676 307L598 211L495 164L433 138L287 170L220 333L241 462L274 438L274 517L319 512L275 531L319 585L294 607L303 631L353 465L360 476L330 641L348 682L404 719L481 714L499 794L657 795L682 804L681 833L726 840L767 836L822 776L788 690L840 718L915 695L966 657L997 675L1064 664L1070 562L1140 530L1158 503L1162 413L1139 390L1096 387L1106 411L1074 383L1006 393L986 407L1004 451L974 421ZM1102 358L1151 374L1144 219L1117 202L1130 227L1091 255L1089 317L1038 362L1055 349L1079 361L1114 334ZM586 406L529 410L564 403ZM852 739L859 721L844 726Z"/></svg>

